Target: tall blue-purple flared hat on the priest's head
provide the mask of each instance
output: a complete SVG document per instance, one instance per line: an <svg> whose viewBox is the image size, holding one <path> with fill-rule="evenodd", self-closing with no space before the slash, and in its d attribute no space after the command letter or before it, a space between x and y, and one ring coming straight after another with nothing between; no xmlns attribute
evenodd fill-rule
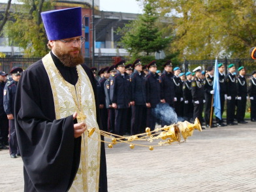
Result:
<svg viewBox="0 0 256 192"><path fill-rule="evenodd" d="M82 36L81 7L41 12L48 40Z"/></svg>

